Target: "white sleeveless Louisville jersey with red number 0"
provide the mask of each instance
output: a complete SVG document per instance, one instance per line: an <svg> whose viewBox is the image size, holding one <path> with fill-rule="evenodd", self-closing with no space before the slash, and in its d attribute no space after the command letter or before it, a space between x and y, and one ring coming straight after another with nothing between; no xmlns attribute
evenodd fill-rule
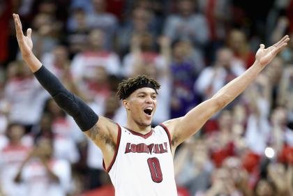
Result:
<svg viewBox="0 0 293 196"><path fill-rule="evenodd" d="M177 196L170 133L160 124L146 135L119 126L106 169L117 196Z"/></svg>

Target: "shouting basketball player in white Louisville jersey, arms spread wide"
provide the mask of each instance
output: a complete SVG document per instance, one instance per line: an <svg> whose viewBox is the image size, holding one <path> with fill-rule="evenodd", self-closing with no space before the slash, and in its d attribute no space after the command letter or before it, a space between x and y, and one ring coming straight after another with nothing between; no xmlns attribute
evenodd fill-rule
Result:
<svg viewBox="0 0 293 196"><path fill-rule="evenodd" d="M239 96L290 40L284 36L266 49L260 45L255 63L245 73L185 116L165 121L156 128L151 128L151 120L156 111L160 84L146 76L123 80L117 93L127 112L127 124L122 127L95 114L80 98L63 87L32 53L31 29L24 36L20 17L17 14L13 17L22 58L57 104L73 116L84 134L101 149L105 169L118 196L176 196L173 168L176 146Z"/></svg>

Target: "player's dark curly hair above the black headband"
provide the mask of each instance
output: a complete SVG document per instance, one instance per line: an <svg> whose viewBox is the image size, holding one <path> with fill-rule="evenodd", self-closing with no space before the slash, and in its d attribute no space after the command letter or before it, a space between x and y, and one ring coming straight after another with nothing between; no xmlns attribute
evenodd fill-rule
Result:
<svg viewBox="0 0 293 196"><path fill-rule="evenodd" d="M147 75L138 75L137 77L122 80L118 85L117 96L119 100L126 99L131 93L133 93L133 91L143 87L150 87L156 91L157 89L160 89L160 84Z"/></svg>

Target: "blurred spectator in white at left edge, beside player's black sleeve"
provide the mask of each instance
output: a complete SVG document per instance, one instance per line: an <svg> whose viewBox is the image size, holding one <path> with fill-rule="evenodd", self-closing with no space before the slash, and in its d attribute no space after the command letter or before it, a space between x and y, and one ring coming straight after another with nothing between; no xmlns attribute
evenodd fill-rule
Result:
<svg viewBox="0 0 293 196"><path fill-rule="evenodd" d="M45 99L49 94L44 91L22 61L9 65L5 98L11 105L9 120L22 123L27 132L40 120Z"/></svg>

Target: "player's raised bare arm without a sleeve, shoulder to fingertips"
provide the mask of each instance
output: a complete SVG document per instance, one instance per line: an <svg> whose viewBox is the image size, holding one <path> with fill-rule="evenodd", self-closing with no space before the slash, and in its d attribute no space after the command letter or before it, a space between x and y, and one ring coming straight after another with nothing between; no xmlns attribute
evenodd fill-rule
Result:
<svg viewBox="0 0 293 196"><path fill-rule="evenodd" d="M278 43L266 49L261 44L255 55L255 63L245 73L223 86L212 98L197 105L185 116L166 121L164 124L170 130L173 148L195 134L213 114L222 110L239 96L276 54L287 45L289 40L289 36L284 36Z"/></svg>

